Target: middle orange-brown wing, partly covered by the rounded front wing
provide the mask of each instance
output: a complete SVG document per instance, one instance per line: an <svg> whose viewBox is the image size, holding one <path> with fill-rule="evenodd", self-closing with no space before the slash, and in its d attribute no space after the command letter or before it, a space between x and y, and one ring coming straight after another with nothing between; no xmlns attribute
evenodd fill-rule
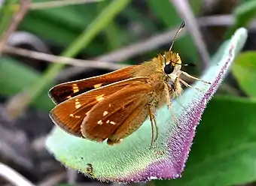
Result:
<svg viewBox="0 0 256 186"><path fill-rule="evenodd" d="M77 95L74 98L70 98L69 100L56 105L56 107L50 111L50 118L67 133L75 136L82 136L82 121L93 106L99 104L102 100L110 97L120 89L130 85L130 83L137 81L145 83L146 80L148 80L147 77L135 77Z"/></svg>

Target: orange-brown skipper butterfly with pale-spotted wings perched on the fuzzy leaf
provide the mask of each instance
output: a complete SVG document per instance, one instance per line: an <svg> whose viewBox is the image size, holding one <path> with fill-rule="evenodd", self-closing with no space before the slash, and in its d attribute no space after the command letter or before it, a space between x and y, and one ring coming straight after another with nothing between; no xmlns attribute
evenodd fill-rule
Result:
<svg viewBox="0 0 256 186"><path fill-rule="evenodd" d="M165 73L166 65L172 73ZM181 58L169 51L142 65L59 84L49 92L58 104L50 118L72 135L97 142L108 139L109 145L136 131L148 117L154 133L157 109L163 104L171 108L172 98L182 92L180 70Z"/></svg>

